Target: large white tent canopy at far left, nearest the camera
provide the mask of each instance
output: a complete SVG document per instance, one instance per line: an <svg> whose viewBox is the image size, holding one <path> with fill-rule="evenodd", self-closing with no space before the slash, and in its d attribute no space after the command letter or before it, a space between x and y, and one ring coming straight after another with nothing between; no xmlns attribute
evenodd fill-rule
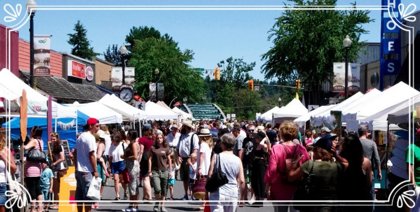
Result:
<svg viewBox="0 0 420 212"><path fill-rule="evenodd" d="M48 98L26 85L9 70L2 69L0 71L0 97L4 97L8 101L17 100L16 104L18 105L20 102L18 98L22 95L23 89L26 90L28 98L28 116L46 117ZM75 107L63 106L56 102L52 102L52 106L54 118L77 117Z"/></svg>

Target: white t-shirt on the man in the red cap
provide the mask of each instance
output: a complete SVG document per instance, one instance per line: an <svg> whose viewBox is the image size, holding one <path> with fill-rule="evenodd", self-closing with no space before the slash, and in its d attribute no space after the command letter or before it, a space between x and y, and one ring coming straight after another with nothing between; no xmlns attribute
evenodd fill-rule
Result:
<svg viewBox="0 0 420 212"><path fill-rule="evenodd" d="M95 152L96 158L96 140L90 132L82 133L76 140L74 149L77 150L77 171L79 172L94 172L92 163L89 159L89 153ZM96 160L95 160L96 161Z"/></svg>

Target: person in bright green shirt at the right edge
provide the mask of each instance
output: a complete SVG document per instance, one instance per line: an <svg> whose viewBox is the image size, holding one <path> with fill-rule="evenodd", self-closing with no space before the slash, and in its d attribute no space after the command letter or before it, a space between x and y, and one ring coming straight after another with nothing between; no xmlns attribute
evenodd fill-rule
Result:
<svg viewBox="0 0 420 212"><path fill-rule="evenodd" d="M410 177L411 183L413 184L413 190L416 192L413 196L416 204L410 211L418 212L420 210L420 129L416 132L416 140L407 146L405 150L405 162L406 171Z"/></svg>

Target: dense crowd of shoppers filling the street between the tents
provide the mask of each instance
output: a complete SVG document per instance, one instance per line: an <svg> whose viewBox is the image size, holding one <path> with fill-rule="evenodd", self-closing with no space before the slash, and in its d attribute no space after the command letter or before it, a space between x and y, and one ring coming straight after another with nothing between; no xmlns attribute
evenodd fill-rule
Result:
<svg viewBox="0 0 420 212"><path fill-rule="evenodd" d="M123 211L140 211L138 204L152 204L150 200L154 197L160 201L155 203L153 211L166 212L165 201L175 196L181 200L196 199L194 186L219 170L225 173L228 182L215 191L205 191L200 196L200 210L204 210L207 200L215 200L208 203L212 212L234 212L245 203L262 207L264 199L292 200L303 183L310 200L323 200L323 204L303 207L300 211L336 211L338 205L330 201L372 199L372 164L378 170L380 164L375 142L366 138L368 132L367 125L361 125L357 133L348 132L339 142L338 136L326 127L307 130L302 138L297 125L287 121L273 128L271 124L263 126L245 120L192 122L188 119L180 125L143 124L138 132L129 127L108 130L106 125L89 118L85 131L77 135L71 155L77 181L75 200L82 203L90 200L87 193L95 177L102 179L102 198L107 178L112 177L115 200L122 199L120 186L124 190L123 199L132 200ZM43 151L42 133L42 128L35 126L30 141L22 148ZM56 204L43 206L42 200L50 200L50 194L54 201L58 200L60 177L67 174L60 136L53 133L50 137L53 149L49 164L25 162L23 175L27 189L32 200L38 200L31 204L31 212L57 209ZM11 153L2 142L0 173L10 164L14 174L16 165L7 160ZM183 196L174 191L178 177L183 183ZM306 182L308 177L310 183ZM0 212L4 209L2 180L0 175ZM142 201L139 187L143 189ZM79 212L83 208L89 212L99 207L98 203L81 202L77 205ZM286 203L273 205L276 212L295 211ZM340 210L354 208L340 207ZM369 207L358 207L358 210L371 211Z"/></svg>

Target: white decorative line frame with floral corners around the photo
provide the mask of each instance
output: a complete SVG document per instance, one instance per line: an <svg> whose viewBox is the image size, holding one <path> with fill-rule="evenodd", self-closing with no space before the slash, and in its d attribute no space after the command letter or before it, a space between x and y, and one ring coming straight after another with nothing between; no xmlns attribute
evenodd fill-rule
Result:
<svg viewBox="0 0 420 212"><path fill-rule="evenodd" d="M390 5L390 1L393 0L388 0L388 5L387 6L382 6L382 5L362 5L362 6L356 6L353 7L351 5L337 5L337 6L277 6L277 5L267 5L267 6L259 6L259 5L250 5L250 6L245 6L245 5L185 5L185 6L178 6L178 5L163 5L163 6L150 6L150 5L133 5L133 6L125 6L125 5L60 5L60 6L54 6L54 5L38 5L36 7L37 11L41 11L41 10L186 10L186 11L190 11L190 10L387 10L388 11L388 16L392 19L392 21L395 23L396 26L398 26L401 30L408 32L409 33L409 41L412 42L412 47L409 48L408 50L408 60L409 60L409 67L408 67L408 73L409 73L409 83L408 85L410 87L413 87L412 83L414 83L413 79L414 79L414 72L413 70L413 66L414 63L412 64L411 61L413 61L414 59L414 52L411 52L411 49L414 49L414 28L413 27L409 27L405 24L403 24L402 22L400 22L399 20L399 16L396 15L396 13L400 13L401 14L401 19L405 20L405 21L410 21L410 22L414 22L416 21L416 17L411 16L414 12L416 12L416 4L414 3L410 3L407 7L405 7L405 5L403 3L400 3L399 5L395 5L396 7L398 7L398 11L395 11L394 7L392 5ZM392 2L391 2L392 4ZM10 32L13 31L17 31L18 29L20 29L21 27L23 27L24 25L26 25L26 23L29 20L29 16L27 16L26 14L28 14L28 11L31 10L32 11L33 8L26 8L25 13L22 13L22 5L21 4L16 4L15 7L12 6L12 4L10 3L6 3L3 5L3 10L6 12L6 14L8 14L8 16L3 17L3 20L6 23L10 23L12 26L6 26L8 30L8 34L6 35L6 39L10 38ZM1 17L0 17L1 18ZM401 38L400 38L401 39ZM8 39L8 47L6 49L9 50L8 52L10 53L10 39ZM6 54L7 55L7 54ZM11 64L11 60L10 60L10 55L7 55L6 57L6 61L7 64L9 64L9 67L7 67L10 70L10 64ZM413 111L414 106L413 106L413 98L409 99L409 103L410 103L410 110L409 111ZM9 102L9 108L10 108L10 102ZM409 112L407 111L407 112ZM10 121L10 116L8 117L9 121ZM412 119L412 118L410 118ZM409 125L409 131L411 130L411 124ZM10 146L10 126L9 126L9 130L6 132L6 137L8 137L8 145ZM409 138L409 144L412 144L413 142L411 141L411 137ZM411 150L410 150L411 152ZM411 156L411 155L410 155ZM409 175L409 179L410 179L411 175ZM351 200L336 200L336 201L329 201L332 203L345 203L343 205L339 205L339 206L346 206L346 205L351 205L351 206L372 206L373 204L375 206L392 206L393 204L397 204L398 208L402 208L403 205L407 205L409 208L413 208L415 206L415 202L412 200L411 196L415 195L415 192L413 190L408 190L403 192L403 194L400 194L399 196L396 196L396 194L403 189L406 186L410 186L410 180L406 180L401 182L400 184L398 184L397 186L394 187L394 189L391 191L391 193L388 196L388 200L377 200L377 201L371 201L371 200L364 200L364 201L351 201ZM23 186L20 185L22 188ZM25 191L27 192L27 191ZM13 195L13 194L10 194ZM396 199L397 197L397 199ZM18 200L19 201L19 200ZM22 201L22 205L25 206L27 205L28 202L25 203L25 200L21 200ZM140 201L140 200L139 200ZM129 201L129 200L124 200L125 203L128 202L139 202L139 201ZM13 202L13 205L16 203L17 201ZM45 201L44 201L45 202ZM69 201L67 200L62 200L59 202L63 202L63 203L68 203ZM72 202L97 202L97 201L73 201ZM114 200L101 200L99 201L100 203L112 203L115 202ZM155 201L152 201L155 202ZM182 201L182 200L174 200L174 201L167 201L165 202L166 206L191 206L188 204L171 204L171 202L179 202L179 203L186 203L188 201ZM209 201L209 202L217 202L217 201ZM310 204L305 204L307 202L313 202L313 203L323 203L324 201L321 200L312 200L312 201L289 201L289 200L262 200L262 201L256 201L256 202L271 202L273 203L273 205L275 205L275 203L290 203L290 204L294 204L294 205L299 205L296 203L302 202L302 205L310 205ZM347 203L358 203L356 204L347 204ZM11 206L13 206L11 205ZM64 206L74 206L74 204L62 204ZM101 204L102 206L115 206L115 204ZM10 205L7 206L8 208L11 207ZM21 205L19 205L21 206Z"/></svg>

